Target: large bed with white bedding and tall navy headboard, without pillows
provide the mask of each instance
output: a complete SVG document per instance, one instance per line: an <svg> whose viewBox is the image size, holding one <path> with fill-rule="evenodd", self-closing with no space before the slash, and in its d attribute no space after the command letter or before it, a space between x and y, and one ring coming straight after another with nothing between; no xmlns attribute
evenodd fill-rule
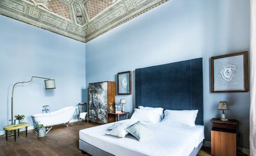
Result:
<svg viewBox="0 0 256 156"><path fill-rule="evenodd" d="M135 107L198 110L196 127L164 122L144 125L154 131L144 141L106 136L114 123L80 130L79 148L91 155L197 155L204 140L202 58L135 70ZM131 120L120 122L132 124Z"/></svg>

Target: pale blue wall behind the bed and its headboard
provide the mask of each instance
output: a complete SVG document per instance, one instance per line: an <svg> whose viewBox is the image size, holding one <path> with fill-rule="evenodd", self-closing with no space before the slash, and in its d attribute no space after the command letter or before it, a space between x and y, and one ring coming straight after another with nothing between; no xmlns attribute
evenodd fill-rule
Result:
<svg viewBox="0 0 256 156"><path fill-rule="evenodd" d="M86 44L86 86L114 81L117 72L202 57L206 140L218 102L227 101L227 117L239 120L238 146L248 148L249 93L210 93L210 57L239 50L249 50L249 0L168 1ZM134 94L120 98L132 111Z"/></svg>

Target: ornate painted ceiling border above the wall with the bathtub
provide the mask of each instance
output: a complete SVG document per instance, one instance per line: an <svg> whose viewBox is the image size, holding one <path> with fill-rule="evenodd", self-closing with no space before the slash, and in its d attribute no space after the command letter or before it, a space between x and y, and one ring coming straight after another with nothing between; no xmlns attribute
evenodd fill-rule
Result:
<svg viewBox="0 0 256 156"><path fill-rule="evenodd" d="M49 10L22 0L0 0L0 14L47 29L62 36L85 42L85 26L60 17Z"/></svg>

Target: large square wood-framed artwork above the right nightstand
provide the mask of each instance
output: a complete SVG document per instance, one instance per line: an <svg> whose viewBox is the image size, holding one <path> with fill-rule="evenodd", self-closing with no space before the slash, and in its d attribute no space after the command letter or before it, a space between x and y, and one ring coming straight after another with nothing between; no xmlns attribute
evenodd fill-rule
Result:
<svg viewBox="0 0 256 156"><path fill-rule="evenodd" d="M248 92L248 52L211 58L212 93Z"/></svg>

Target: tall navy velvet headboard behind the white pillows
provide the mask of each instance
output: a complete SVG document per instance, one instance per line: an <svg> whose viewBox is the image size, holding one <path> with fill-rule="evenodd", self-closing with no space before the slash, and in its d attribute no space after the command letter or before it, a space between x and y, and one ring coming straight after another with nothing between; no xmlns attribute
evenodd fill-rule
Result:
<svg viewBox="0 0 256 156"><path fill-rule="evenodd" d="M198 109L204 125L202 58L136 69L135 88L136 107Z"/></svg>

